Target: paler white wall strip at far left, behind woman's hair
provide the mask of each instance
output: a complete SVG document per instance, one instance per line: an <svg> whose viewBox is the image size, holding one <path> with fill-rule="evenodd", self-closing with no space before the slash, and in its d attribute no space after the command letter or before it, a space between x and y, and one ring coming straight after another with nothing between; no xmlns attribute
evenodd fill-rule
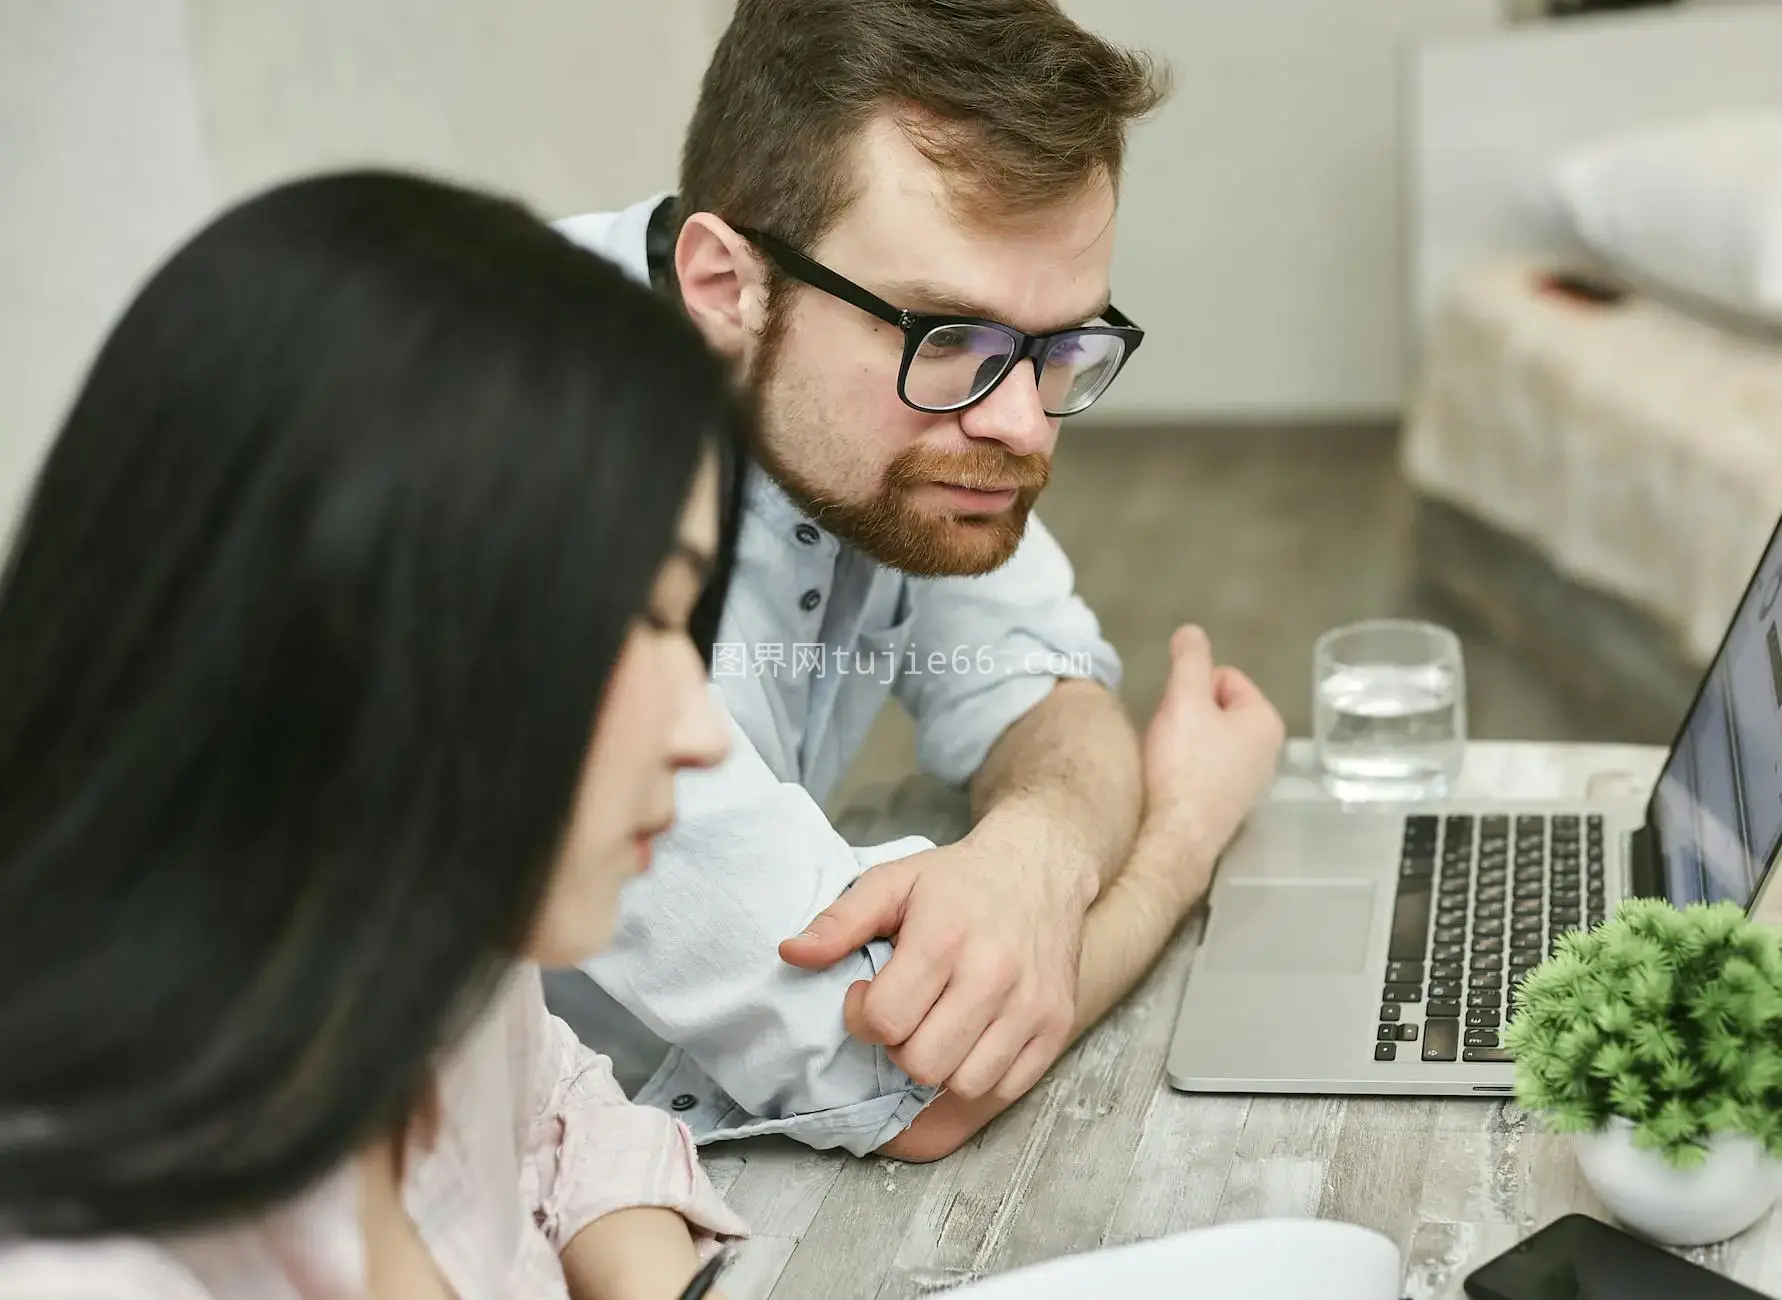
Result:
<svg viewBox="0 0 1782 1300"><path fill-rule="evenodd" d="M210 194L180 0L0 0L0 534L100 337Z"/></svg>

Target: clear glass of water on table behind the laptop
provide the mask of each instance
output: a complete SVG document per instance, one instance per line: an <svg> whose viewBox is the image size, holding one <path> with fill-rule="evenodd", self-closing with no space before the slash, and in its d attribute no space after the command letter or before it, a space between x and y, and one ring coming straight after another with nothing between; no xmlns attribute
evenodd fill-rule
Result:
<svg viewBox="0 0 1782 1300"><path fill-rule="evenodd" d="M1340 800L1442 798L1467 752L1459 638L1394 618L1326 632L1312 652L1312 735Z"/></svg>

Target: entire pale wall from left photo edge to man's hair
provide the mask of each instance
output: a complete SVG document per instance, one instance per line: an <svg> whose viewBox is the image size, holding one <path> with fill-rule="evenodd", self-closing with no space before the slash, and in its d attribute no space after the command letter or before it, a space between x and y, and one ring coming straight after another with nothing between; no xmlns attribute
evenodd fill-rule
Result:
<svg viewBox="0 0 1782 1300"><path fill-rule="evenodd" d="M0 0L0 532L105 328L216 208L383 162L547 215L674 185L722 0Z"/></svg>

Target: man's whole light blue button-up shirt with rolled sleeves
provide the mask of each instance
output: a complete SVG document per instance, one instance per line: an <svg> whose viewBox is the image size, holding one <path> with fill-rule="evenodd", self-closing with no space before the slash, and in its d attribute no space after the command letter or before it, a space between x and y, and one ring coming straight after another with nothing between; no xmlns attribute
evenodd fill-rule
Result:
<svg viewBox="0 0 1782 1300"><path fill-rule="evenodd" d="M656 201L558 228L647 281ZM547 978L552 1010L702 1143L782 1133L879 1149L936 1092L843 1026L848 987L871 979L891 946L807 972L779 944L873 864L934 846L850 846L823 803L887 696L916 719L921 766L962 785L1066 677L1116 687L1119 659L1037 516L994 573L912 579L832 538L756 472L711 682L731 753L677 778L674 830L627 887L613 944L584 976Z"/></svg>

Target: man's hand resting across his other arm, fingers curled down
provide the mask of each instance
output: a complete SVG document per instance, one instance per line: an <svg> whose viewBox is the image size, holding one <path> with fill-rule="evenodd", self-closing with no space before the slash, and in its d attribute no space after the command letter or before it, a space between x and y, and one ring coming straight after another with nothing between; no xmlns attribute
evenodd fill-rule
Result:
<svg viewBox="0 0 1782 1300"><path fill-rule="evenodd" d="M1071 1040L1083 898L1032 848L975 835L870 869L781 956L820 969L895 938L886 969L848 990L848 1033L916 1083L1009 1102Z"/></svg>

